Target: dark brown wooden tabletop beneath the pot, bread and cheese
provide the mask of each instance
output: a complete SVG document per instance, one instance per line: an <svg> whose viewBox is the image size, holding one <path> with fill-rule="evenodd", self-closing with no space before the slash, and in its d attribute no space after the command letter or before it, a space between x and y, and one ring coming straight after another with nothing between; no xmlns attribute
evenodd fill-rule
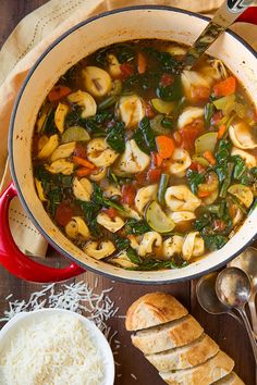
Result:
<svg viewBox="0 0 257 385"><path fill-rule="evenodd" d="M0 1L0 47L8 38L11 30L27 13L46 3L46 0L1 0ZM172 2L171 2L172 3ZM59 265L61 258L50 258L51 264ZM85 273L76 282L85 280L94 286L96 274ZM110 297L120 307L119 314L125 314L127 307L140 295L155 290L163 290L174 295L187 307L189 312L201 323L208 333L235 361L235 371L244 380L246 385L255 385L255 363L245 330L229 315L210 315L198 305L195 294L196 281L184 282L174 285L140 286L122 283L113 283L99 276L98 290L113 286ZM8 307L5 297L13 293L15 298L29 298L30 293L40 289L40 285L23 282L10 275L0 268L0 318ZM130 334L124 328L124 320L113 318L109 324L113 331L118 331L117 338L121 340L121 349L117 360L121 363L117 373L115 384L121 385L161 385L157 371L144 359L143 355L131 345ZM135 374L135 381L131 373ZM26 385L26 384L24 384ZM200 385L200 384L199 384Z"/></svg>

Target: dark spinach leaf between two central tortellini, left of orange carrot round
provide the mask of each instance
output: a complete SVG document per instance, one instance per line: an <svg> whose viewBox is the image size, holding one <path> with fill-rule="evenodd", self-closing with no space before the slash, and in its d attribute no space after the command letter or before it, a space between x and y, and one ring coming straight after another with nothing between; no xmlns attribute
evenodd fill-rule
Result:
<svg viewBox="0 0 257 385"><path fill-rule="evenodd" d="M133 139L144 152L157 151L155 134L146 116L139 122Z"/></svg>

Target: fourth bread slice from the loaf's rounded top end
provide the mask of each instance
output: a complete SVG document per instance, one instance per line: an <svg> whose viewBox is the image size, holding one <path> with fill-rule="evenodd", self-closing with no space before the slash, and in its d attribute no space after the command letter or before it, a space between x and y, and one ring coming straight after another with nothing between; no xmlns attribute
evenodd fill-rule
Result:
<svg viewBox="0 0 257 385"><path fill-rule="evenodd" d="M160 376L169 385L209 385L229 374L234 361L223 351L205 363L174 372L160 372Z"/></svg>

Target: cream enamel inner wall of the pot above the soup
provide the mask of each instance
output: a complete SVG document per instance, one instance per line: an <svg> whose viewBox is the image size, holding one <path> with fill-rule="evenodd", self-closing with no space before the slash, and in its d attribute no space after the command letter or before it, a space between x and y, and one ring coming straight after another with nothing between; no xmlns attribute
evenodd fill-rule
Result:
<svg viewBox="0 0 257 385"><path fill-rule="evenodd" d="M9 150L12 176L23 206L47 240L85 269L114 280L163 284L188 280L225 264L256 235L257 210L221 249L180 270L126 271L87 257L52 223L35 191L32 173L32 137L39 108L47 94L82 58L98 48L130 39L158 38L191 45L207 24L196 14L164 7L134 7L87 20L61 36L38 60L19 95L11 122ZM244 84L257 104L256 53L238 37L223 34L208 52L221 59Z"/></svg>

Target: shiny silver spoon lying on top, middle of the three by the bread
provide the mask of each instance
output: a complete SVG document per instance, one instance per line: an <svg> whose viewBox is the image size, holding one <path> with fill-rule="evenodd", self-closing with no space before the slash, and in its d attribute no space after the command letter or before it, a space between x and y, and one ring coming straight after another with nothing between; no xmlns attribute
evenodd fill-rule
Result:
<svg viewBox="0 0 257 385"><path fill-rule="evenodd" d="M234 308L241 314L257 364L257 343L245 312L245 305L250 296L250 282L247 274L238 268L224 269L217 277L216 293L223 305Z"/></svg>

